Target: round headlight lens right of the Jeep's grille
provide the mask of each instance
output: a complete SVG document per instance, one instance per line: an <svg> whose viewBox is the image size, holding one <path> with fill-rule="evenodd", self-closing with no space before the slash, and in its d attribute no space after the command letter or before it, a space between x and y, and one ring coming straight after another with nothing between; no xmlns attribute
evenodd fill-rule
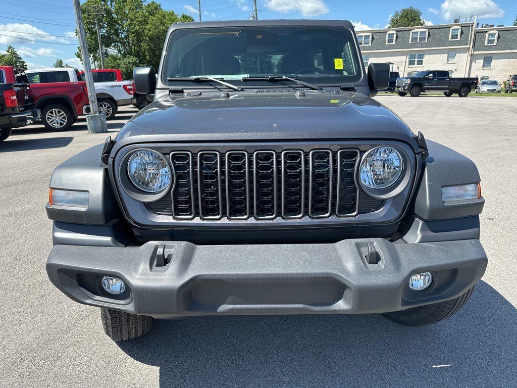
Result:
<svg viewBox="0 0 517 388"><path fill-rule="evenodd" d="M388 146L372 148L362 158L359 168L361 183L371 189L384 189L396 183L402 175L402 157Z"/></svg>

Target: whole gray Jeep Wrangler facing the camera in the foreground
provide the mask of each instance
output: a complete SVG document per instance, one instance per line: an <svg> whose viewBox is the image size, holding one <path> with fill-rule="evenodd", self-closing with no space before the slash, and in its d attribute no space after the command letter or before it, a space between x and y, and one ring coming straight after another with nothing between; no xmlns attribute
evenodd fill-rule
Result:
<svg viewBox="0 0 517 388"><path fill-rule="evenodd" d="M476 166L371 98L347 21L181 23L154 102L59 165L47 272L114 340L155 319L450 317L486 268Z"/></svg>

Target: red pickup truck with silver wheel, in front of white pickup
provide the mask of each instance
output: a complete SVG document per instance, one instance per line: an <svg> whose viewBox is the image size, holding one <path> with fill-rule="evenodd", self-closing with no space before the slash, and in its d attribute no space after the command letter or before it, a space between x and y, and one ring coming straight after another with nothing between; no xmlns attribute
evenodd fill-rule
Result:
<svg viewBox="0 0 517 388"><path fill-rule="evenodd" d="M18 82L28 82L24 73ZM41 121L51 131L70 128L80 115L89 112L86 82L33 83L34 105L41 110Z"/></svg>

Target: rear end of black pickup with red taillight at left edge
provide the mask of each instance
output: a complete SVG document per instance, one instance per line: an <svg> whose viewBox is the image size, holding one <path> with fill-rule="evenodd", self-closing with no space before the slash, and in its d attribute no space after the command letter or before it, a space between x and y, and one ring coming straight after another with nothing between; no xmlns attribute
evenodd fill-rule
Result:
<svg viewBox="0 0 517 388"><path fill-rule="evenodd" d="M40 111L34 108L31 85L16 81L19 72L11 66L0 66L0 141L11 135L12 128L39 120Z"/></svg>

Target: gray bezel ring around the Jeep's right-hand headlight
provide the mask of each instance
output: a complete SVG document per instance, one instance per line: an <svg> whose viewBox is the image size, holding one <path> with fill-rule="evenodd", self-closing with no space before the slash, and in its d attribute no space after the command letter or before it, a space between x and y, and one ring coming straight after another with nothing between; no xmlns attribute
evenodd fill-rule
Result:
<svg viewBox="0 0 517 388"><path fill-rule="evenodd" d="M390 182L388 185L383 187L370 187L366 184L364 184L361 180L361 168L366 161L366 159L369 157L369 155L377 150L378 148L383 147L389 147L392 148L397 155L400 158L400 172L397 174L397 177L393 180L393 182ZM401 150L401 148L394 146L394 145L380 145L371 148L367 152L365 152L362 157L361 161L359 162L359 166L357 169L357 182L360 185L361 189L366 192L370 197L377 198L377 199L390 199L393 197L398 196L408 185L410 178L411 178L411 162L409 160L409 156Z"/></svg>

